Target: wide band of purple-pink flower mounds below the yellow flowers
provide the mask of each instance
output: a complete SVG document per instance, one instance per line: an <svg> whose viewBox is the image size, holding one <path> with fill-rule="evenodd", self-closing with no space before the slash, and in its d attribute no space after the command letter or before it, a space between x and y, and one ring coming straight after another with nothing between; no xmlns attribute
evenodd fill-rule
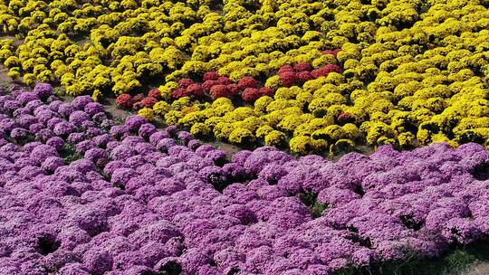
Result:
<svg viewBox="0 0 489 275"><path fill-rule="evenodd" d="M489 234L489 152L435 144L333 163L225 153L117 125L49 85L0 96L0 266L21 274L331 274ZM19 134L22 133L22 134Z"/></svg>

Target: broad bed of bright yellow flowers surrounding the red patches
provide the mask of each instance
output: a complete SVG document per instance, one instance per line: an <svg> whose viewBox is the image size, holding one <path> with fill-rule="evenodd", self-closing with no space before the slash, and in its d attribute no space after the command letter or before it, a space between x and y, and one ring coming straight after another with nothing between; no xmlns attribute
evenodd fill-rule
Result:
<svg viewBox="0 0 489 275"><path fill-rule="evenodd" d="M239 91L244 100L256 100L254 117L266 127L258 132L234 119L216 129L215 118L222 116L208 106L193 108L205 112L191 115L200 119L181 123L185 114L171 112L170 124L195 126L195 134L235 143L288 144L302 155L359 144L489 146L489 21L482 0L75 4L1 5L0 33L21 39L0 43L0 62L13 79L59 82L68 94L95 99L165 82L160 100L171 104L172 95L201 96L206 90L199 85L179 90L178 81L200 82L215 71L235 83L263 80L261 86L276 91L273 98L266 97L268 89ZM287 65L300 72L280 71ZM321 68L336 65L341 73L310 80L323 74ZM215 99L238 92L230 85L220 83L208 92ZM130 103L121 100L123 106ZM137 103L147 108L141 115L154 115L149 108L155 100ZM165 109L163 103L156 108Z"/></svg>

